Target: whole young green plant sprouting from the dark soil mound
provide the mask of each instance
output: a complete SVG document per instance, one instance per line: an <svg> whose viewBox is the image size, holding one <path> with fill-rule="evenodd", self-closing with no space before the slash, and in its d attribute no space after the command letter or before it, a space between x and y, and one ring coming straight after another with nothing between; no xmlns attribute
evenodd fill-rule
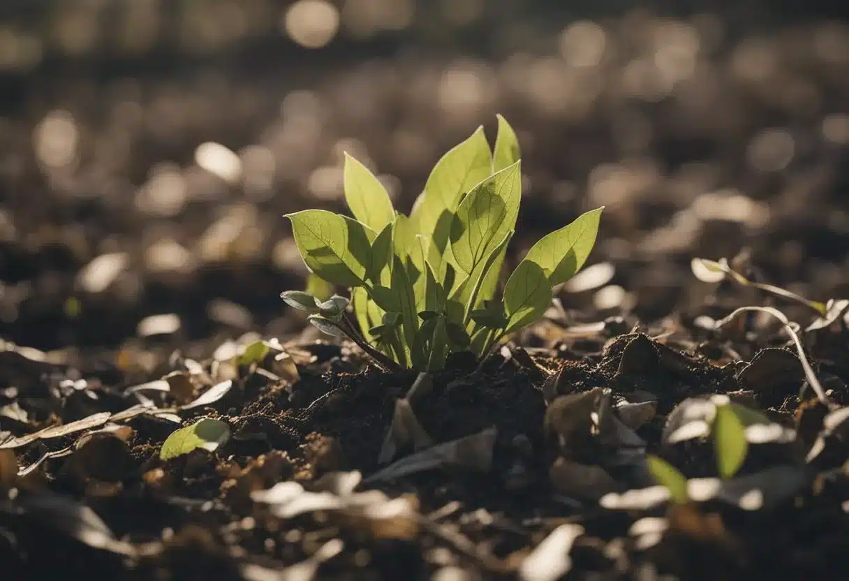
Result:
<svg viewBox="0 0 849 581"><path fill-rule="evenodd" d="M441 369L449 353L482 357L533 323L587 261L603 208L544 236L496 296L521 199L519 142L498 116L492 151L483 127L436 163L405 216L366 166L346 155L345 197L353 217L323 210L288 214L306 267L348 299L282 297L329 335L348 336L385 368Z"/></svg>

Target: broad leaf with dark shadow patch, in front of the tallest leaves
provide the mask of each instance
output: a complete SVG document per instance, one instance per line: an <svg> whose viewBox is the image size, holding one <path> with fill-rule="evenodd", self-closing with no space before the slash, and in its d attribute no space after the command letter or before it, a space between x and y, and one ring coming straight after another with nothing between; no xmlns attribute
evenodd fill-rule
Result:
<svg viewBox="0 0 849 581"><path fill-rule="evenodd" d="M465 274L486 260L519 216L521 162L492 174L466 195L451 225L451 251Z"/></svg>

